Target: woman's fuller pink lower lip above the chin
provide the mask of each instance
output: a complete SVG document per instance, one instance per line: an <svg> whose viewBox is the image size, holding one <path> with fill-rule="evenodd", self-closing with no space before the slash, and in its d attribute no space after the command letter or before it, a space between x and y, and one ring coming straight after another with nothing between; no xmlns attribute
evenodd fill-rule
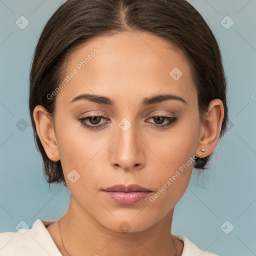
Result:
<svg viewBox="0 0 256 256"><path fill-rule="evenodd" d="M134 204L146 198L150 191L132 191L132 192L120 192L120 191L104 191L103 192L119 204Z"/></svg>

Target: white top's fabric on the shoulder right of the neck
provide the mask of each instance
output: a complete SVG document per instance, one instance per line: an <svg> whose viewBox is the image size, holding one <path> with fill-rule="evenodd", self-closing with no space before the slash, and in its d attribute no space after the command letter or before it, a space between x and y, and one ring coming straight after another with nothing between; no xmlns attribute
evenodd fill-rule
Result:
<svg viewBox="0 0 256 256"><path fill-rule="evenodd" d="M176 238L183 241L184 247L181 256L219 256L212 252L199 249L194 243L192 243L187 237L179 234L173 234Z"/></svg>

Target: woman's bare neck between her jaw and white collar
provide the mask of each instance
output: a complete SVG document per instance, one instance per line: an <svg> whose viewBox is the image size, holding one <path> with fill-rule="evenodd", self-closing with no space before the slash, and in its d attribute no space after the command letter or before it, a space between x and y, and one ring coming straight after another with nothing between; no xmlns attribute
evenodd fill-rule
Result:
<svg viewBox="0 0 256 256"><path fill-rule="evenodd" d="M63 247L70 256L180 256L183 242L170 232L173 211L174 208L146 230L116 232L102 226L83 210L81 212L79 205L70 196L68 210L60 220Z"/></svg>

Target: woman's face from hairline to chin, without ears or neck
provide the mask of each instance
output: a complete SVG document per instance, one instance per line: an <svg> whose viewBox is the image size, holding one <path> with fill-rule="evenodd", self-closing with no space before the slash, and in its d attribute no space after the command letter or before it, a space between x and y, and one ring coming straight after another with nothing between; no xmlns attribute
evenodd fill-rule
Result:
<svg viewBox="0 0 256 256"><path fill-rule="evenodd" d="M66 75L55 95L54 154L73 207L115 231L152 226L183 195L200 150L188 60L159 37L125 32L84 44L69 58ZM91 100L74 99L81 94ZM174 97L150 100L160 94ZM101 98L94 102L96 96ZM85 119L97 115L103 117ZM115 184L138 184L149 192L122 199L124 192L103 191Z"/></svg>

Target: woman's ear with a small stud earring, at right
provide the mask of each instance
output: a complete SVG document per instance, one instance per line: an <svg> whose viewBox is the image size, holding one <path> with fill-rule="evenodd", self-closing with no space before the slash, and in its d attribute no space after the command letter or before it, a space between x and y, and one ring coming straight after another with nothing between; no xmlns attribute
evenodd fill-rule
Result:
<svg viewBox="0 0 256 256"><path fill-rule="evenodd" d="M218 142L223 118L223 102L218 98L211 100L200 124L199 141L197 144L197 151L200 154L198 154L198 157L205 157L213 152ZM205 149L204 152L201 151L202 148Z"/></svg>

